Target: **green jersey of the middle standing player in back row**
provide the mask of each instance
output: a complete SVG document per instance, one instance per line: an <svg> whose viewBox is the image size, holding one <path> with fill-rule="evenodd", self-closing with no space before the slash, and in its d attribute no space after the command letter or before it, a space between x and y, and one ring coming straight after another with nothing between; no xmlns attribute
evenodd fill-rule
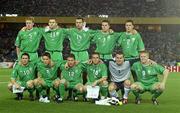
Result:
<svg viewBox="0 0 180 113"><path fill-rule="evenodd" d="M66 35L70 40L70 48L72 51L84 51L89 49L90 41L96 31L78 30L71 28L66 30Z"/></svg>

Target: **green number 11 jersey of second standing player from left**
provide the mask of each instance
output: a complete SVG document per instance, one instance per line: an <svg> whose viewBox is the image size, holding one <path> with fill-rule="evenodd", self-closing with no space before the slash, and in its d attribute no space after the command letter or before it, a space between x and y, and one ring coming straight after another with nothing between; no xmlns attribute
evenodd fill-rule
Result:
<svg viewBox="0 0 180 113"><path fill-rule="evenodd" d="M45 48L48 51L62 51L63 41L65 38L64 30L62 28L50 30L44 28L42 30L43 37L45 40Z"/></svg>

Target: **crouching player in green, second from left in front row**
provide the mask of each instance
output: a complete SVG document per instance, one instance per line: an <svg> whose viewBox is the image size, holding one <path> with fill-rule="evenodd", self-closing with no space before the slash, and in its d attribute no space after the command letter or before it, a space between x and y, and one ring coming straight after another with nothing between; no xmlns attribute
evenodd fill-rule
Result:
<svg viewBox="0 0 180 113"><path fill-rule="evenodd" d="M40 93L39 102L49 103L49 95L46 94L48 88L53 88L56 92L56 101L60 102L58 69L60 63L52 62L50 53L45 52L41 61L37 64L38 78L34 80L34 84Z"/></svg>

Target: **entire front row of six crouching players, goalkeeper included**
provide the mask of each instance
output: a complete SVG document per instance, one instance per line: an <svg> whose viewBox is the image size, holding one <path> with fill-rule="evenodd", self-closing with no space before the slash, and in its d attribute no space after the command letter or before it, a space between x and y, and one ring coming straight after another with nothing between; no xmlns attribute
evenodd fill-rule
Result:
<svg viewBox="0 0 180 113"><path fill-rule="evenodd" d="M38 70L38 77L35 78L35 68ZM58 76L58 70L61 75ZM137 74L137 82L131 83L130 75L134 70ZM165 89L165 83L168 76L168 70L161 65L149 59L149 53L142 51L140 61L130 67L129 61L124 60L122 53L115 55L115 60L109 61L110 84L108 87L107 67L101 61L99 53L93 53L91 59L87 62L77 62L73 54L67 57L66 61L53 62L49 53L44 53L37 66L29 62L29 55L22 54L21 60L13 69L11 82L8 87L12 88L25 87L30 93L30 99L33 100L33 91L36 88L40 92L40 102L50 102L46 89L52 88L55 92L55 101L63 102L66 91L73 91L73 99L78 100L79 95L84 99L87 86L100 86L101 99L110 97L119 98L117 91L121 89L122 102L127 104L128 94L132 90L135 95L135 103L140 104L141 94L149 91L153 94L152 102L157 105L157 97ZM87 83L83 85L82 73L87 73ZM158 75L163 75L161 82ZM108 91L109 90L109 91ZM22 99L22 93L17 93L17 99Z"/></svg>

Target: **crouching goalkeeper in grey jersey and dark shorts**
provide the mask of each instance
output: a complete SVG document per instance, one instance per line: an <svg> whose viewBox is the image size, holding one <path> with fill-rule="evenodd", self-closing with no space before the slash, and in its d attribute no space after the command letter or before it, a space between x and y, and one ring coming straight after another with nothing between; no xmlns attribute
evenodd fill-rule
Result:
<svg viewBox="0 0 180 113"><path fill-rule="evenodd" d="M109 94L111 97L118 98L117 91L121 89L123 99L123 104L128 102L128 94L130 91L131 81L130 75L130 63L129 61L124 61L124 56L121 52L117 52L115 55L115 61L109 62L110 70L110 84L109 84Z"/></svg>

